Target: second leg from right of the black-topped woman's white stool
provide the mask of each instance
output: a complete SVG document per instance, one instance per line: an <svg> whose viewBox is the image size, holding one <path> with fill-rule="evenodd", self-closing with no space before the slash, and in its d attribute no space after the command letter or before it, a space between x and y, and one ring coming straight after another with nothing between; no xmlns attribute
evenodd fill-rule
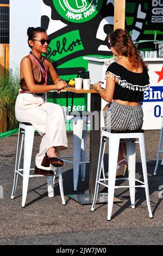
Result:
<svg viewBox="0 0 163 256"><path fill-rule="evenodd" d="M126 142L131 208L135 209L135 143Z"/></svg>

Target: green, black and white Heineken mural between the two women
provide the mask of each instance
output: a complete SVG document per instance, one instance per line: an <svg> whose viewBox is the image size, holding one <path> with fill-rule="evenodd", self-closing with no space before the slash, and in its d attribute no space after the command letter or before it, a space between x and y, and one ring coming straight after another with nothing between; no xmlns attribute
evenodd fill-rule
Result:
<svg viewBox="0 0 163 256"><path fill-rule="evenodd" d="M58 75L68 81L87 71L84 56L111 56L106 35L114 25L114 1L43 0L41 26L52 40L46 56ZM52 95L53 102L66 106L66 93ZM71 93L68 105L71 109ZM51 99L52 101L52 99ZM87 95L75 94L73 110L86 110Z"/></svg>

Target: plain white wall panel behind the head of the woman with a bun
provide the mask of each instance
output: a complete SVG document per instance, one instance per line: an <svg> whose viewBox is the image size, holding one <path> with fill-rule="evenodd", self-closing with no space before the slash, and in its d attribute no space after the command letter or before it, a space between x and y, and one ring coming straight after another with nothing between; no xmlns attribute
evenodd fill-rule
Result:
<svg viewBox="0 0 163 256"><path fill-rule="evenodd" d="M27 43L27 28L40 27L42 0L10 1L10 70L20 70L21 59L30 48Z"/></svg>

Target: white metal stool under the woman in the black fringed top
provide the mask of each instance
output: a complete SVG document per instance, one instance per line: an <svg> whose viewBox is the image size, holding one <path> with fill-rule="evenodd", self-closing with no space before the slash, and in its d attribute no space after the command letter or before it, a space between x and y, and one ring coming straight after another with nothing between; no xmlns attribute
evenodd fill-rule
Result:
<svg viewBox="0 0 163 256"><path fill-rule="evenodd" d="M109 175L108 175L108 179L101 179L101 170L102 170L102 162L103 162L103 157L104 157L106 138L109 138L109 168L108 168ZM144 182L135 179L135 139L136 138L139 139ZM119 149L120 139L132 139L131 141L129 141L129 140L126 141L129 177L118 179L118 180L128 180L129 186L115 186L115 181L117 180L116 179L116 167L117 167L118 149ZM108 181L108 185L104 184L102 182L104 180ZM141 185L135 185L135 181L139 182ZM101 184L105 187L108 187L108 217L107 217L108 221L111 220L112 205L113 205L113 199L114 199L114 190L115 190L115 188L120 188L120 187L129 187L132 209L135 209L135 187L145 187L149 217L153 218L152 211L151 211L151 205L150 205L150 201L149 201L145 141L144 141L144 136L143 136L143 130L124 131L124 132L123 131L108 132L105 130L105 128L102 129L102 131L101 131L101 147L99 150L95 194L94 194L94 198L93 198L91 211L95 210L95 204L96 204L99 184Z"/></svg>

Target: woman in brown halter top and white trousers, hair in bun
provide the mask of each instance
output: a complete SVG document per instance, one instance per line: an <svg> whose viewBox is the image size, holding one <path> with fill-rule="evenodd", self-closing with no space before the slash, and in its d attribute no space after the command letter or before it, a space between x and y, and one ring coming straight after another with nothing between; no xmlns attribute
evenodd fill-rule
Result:
<svg viewBox="0 0 163 256"><path fill-rule="evenodd" d="M15 114L18 121L31 123L42 136L35 174L53 175L57 167L64 164L58 153L67 148L65 113L60 105L46 102L45 93L51 90L60 93L67 84L57 75L50 60L42 56L51 42L45 29L29 27L27 35L31 51L21 60ZM49 77L53 81L51 85L47 85Z"/></svg>

